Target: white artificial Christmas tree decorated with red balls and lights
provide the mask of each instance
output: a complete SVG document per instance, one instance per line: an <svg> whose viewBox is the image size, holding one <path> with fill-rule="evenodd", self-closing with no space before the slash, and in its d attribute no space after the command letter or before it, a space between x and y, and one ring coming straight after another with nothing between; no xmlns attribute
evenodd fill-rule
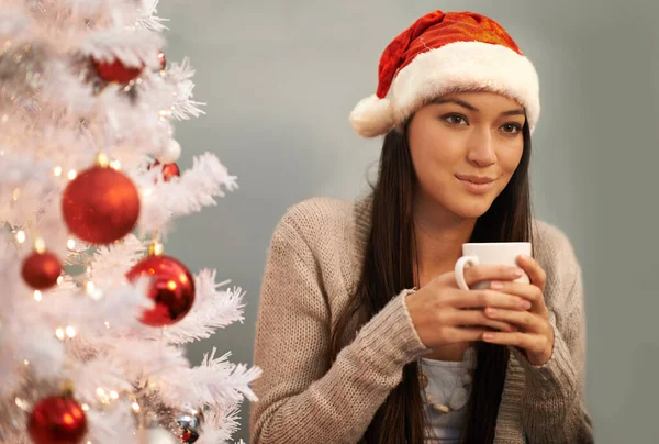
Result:
<svg viewBox="0 0 659 444"><path fill-rule="evenodd" d="M258 368L183 345L243 291L164 252L176 218L237 188L180 171L199 116L157 0L0 0L0 442L223 443Z"/></svg>

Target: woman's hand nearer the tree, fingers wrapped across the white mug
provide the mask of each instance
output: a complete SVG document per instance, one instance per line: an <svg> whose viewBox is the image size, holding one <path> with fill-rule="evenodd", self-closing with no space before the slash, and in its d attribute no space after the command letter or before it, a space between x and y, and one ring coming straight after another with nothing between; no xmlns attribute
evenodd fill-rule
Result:
<svg viewBox="0 0 659 444"><path fill-rule="evenodd" d="M469 286L483 280L512 282L522 276L520 268L503 265L474 265L465 269L465 280ZM515 331L510 322L487 317L485 307L511 313L522 313L530 308L527 298L503 291L461 290L453 271L407 295L405 303L421 341L429 348L480 341L491 329Z"/></svg>

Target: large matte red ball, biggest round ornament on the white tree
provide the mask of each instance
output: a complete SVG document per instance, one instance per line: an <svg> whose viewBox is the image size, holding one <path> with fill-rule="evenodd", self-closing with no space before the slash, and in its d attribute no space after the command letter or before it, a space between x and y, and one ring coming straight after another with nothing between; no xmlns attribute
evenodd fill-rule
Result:
<svg viewBox="0 0 659 444"><path fill-rule="evenodd" d="M62 211L76 236L92 244L110 244L135 227L139 193L123 173L96 166L67 185Z"/></svg>

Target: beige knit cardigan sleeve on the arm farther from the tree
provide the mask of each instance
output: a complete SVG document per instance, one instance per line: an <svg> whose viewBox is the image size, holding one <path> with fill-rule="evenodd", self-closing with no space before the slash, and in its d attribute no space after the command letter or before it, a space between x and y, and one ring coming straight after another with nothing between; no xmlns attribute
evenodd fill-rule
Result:
<svg viewBox="0 0 659 444"><path fill-rule="evenodd" d="M584 407L585 317L581 268L562 234L552 249L556 267L548 270L546 300L554 328L551 358L533 366L517 348L513 354L526 375L522 422L529 443L593 442L592 422ZM551 273L551 276L550 276Z"/></svg>

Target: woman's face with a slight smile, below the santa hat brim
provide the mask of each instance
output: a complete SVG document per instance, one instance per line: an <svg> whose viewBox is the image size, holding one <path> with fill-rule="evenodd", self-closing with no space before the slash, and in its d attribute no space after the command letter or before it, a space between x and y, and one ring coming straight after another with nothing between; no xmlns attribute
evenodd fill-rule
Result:
<svg viewBox="0 0 659 444"><path fill-rule="evenodd" d="M492 92L444 96L407 127L416 198L462 219L481 217L522 159L524 109Z"/></svg>

